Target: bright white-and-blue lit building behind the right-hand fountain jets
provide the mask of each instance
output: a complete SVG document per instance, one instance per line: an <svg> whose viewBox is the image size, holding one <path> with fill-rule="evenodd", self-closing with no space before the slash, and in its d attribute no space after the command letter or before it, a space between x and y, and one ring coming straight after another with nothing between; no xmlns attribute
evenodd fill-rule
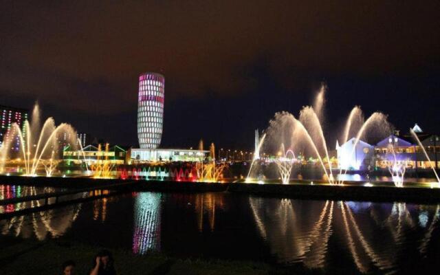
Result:
<svg viewBox="0 0 440 275"><path fill-rule="evenodd" d="M374 146L359 140L355 142L355 137L339 146L336 142L336 152L338 155L338 168L344 170L368 170L374 166L373 154Z"/></svg>

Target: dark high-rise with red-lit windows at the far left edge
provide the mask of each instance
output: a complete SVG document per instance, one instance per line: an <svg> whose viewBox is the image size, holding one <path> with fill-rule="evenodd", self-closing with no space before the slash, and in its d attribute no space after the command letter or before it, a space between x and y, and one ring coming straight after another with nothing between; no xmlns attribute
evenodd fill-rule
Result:
<svg viewBox="0 0 440 275"><path fill-rule="evenodd" d="M23 135L26 135L24 127L26 120L28 120L28 110L0 105L0 146L3 142L6 142L6 144L11 142L10 149L18 152L21 147L20 137L16 135L14 140L10 140L13 137L8 131L10 131L13 123L17 123Z"/></svg>

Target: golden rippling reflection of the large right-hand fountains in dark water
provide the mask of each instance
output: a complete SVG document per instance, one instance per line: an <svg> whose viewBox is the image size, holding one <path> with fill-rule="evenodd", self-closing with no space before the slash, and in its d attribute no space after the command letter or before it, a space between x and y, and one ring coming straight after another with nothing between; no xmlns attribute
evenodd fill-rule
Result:
<svg viewBox="0 0 440 275"><path fill-rule="evenodd" d="M250 208L261 237L280 261L322 268L331 258L329 238L335 234L342 237L340 245L348 250L357 270L367 273L395 270L399 256L404 256L412 242L410 235L416 235L423 257L439 220L440 205L250 197ZM423 230L426 226L428 230Z"/></svg>

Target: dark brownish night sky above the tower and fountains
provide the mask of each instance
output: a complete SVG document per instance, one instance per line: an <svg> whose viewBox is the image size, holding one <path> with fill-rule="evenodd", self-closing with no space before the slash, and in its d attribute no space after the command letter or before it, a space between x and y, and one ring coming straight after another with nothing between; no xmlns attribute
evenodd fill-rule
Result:
<svg viewBox="0 0 440 275"><path fill-rule="evenodd" d="M94 2L94 3L91 3ZM125 3L122 3L125 2ZM166 77L162 146L252 148L327 83L326 131L355 104L439 131L440 1L0 1L0 104L137 145L137 76ZM335 132L338 130L335 130Z"/></svg>

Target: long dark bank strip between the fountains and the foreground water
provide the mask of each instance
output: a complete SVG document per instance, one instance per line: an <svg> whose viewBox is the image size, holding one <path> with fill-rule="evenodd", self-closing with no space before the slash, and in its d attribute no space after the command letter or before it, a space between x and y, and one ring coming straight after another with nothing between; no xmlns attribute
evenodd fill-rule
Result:
<svg viewBox="0 0 440 275"><path fill-rule="evenodd" d="M415 203L440 202L440 188L417 187L417 184L407 183L408 187L394 186L363 186L363 181L349 181L344 186L331 186L309 181L298 184L256 184L256 183L210 183L192 181L155 181L131 179L93 179L87 177L21 177L0 176L1 184L22 186L50 186L59 188L108 188L117 189L116 184L132 181L129 191L153 192L231 192L239 194L261 195L265 197L289 197L294 199L334 199L352 201L404 201ZM358 185L357 185L358 184ZM374 184L374 183L373 183ZM377 182L376 184L384 184ZM390 185L390 183L388 183Z"/></svg>

